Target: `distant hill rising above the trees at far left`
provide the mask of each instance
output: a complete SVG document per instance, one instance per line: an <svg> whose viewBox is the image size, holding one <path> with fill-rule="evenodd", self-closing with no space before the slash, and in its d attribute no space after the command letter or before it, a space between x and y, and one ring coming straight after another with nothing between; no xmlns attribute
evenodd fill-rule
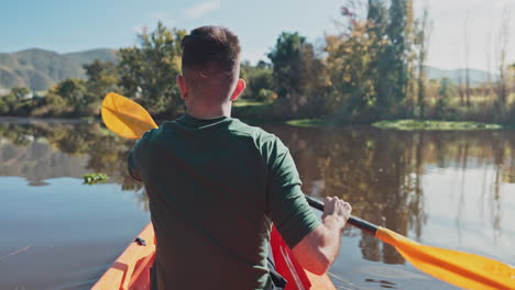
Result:
<svg viewBox="0 0 515 290"><path fill-rule="evenodd" d="M0 53L0 89L46 90L66 78L86 78L83 65L95 59L116 62L116 51L98 48L58 54L39 48Z"/></svg>

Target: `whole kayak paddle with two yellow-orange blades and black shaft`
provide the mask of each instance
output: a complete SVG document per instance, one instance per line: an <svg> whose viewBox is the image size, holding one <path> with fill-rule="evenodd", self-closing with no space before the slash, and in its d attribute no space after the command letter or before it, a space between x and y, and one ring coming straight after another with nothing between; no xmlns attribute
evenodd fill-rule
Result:
<svg viewBox="0 0 515 290"><path fill-rule="evenodd" d="M113 133L140 138L144 132L157 127L152 116L136 102L110 92L102 102L103 123ZM309 205L324 211L324 204L308 196ZM386 244L419 270L464 289L515 289L515 268L501 261L458 250L421 245L398 233L374 225L355 216L348 221Z"/></svg>

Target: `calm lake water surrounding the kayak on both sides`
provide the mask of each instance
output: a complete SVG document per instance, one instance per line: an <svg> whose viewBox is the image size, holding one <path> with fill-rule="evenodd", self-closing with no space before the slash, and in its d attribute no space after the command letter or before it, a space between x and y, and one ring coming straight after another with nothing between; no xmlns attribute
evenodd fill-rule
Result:
<svg viewBox="0 0 515 290"><path fill-rule="evenodd" d="M515 132L394 132L266 125L314 197L423 244L515 264ZM125 170L133 141L99 124L0 123L0 289L88 289L150 220ZM106 172L109 182L83 185ZM456 289L348 227L340 289Z"/></svg>

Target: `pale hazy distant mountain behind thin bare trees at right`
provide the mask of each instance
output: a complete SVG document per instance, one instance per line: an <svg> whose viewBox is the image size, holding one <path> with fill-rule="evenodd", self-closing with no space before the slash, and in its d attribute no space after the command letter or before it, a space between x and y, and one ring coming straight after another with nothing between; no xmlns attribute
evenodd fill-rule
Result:
<svg viewBox="0 0 515 290"><path fill-rule="evenodd" d="M467 71L467 69L464 68L441 69L441 68L436 68L436 67L430 67L430 66L426 66L425 68L426 68L426 75L429 79L449 78L452 82L460 83L460 78L461 78L461 82L464 83L464 76ZM496 74L489 74L487 71L472 69L472 68L469 69L469 75L470 75L470 83L472 86L487 82L489 75L490 75L491 81L497 80L497 77L498 77Z"/></svg>

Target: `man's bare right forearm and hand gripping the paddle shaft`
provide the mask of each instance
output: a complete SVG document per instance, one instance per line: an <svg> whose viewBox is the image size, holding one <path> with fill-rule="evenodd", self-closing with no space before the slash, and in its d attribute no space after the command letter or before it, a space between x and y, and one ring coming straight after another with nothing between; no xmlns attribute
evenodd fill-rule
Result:
<svg viewBox="0 0 515 290"><path fill-rule="evenodd" d="M297 261L308 271L322 275L338 257L341 232L352 208L339 198L326 198L322 223L292 249Z"/></svg>

